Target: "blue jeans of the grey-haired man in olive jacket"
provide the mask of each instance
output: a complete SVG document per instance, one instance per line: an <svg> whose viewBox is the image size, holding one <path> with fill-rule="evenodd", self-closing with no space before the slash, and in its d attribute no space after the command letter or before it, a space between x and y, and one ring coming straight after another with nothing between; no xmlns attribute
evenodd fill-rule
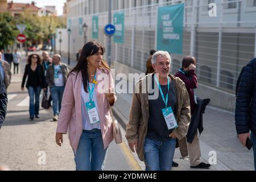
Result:
<svg viewBox="0 0 256 182"><path fill-rule="evenodd" d="M172 160L176 139L168 139L164 141L145 139L144 157L146 171L170 171L172 169Z"/></svg>

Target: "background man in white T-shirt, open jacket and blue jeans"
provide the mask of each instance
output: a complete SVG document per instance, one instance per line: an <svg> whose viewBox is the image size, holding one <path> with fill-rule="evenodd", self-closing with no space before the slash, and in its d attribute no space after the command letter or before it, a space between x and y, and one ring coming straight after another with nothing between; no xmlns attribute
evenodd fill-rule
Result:
<svg viewBox="0 0 256 182"><path fill-rule="evenodd" d="M67 64L61 63L60 55L53 55L53 63L50 64L46 72L46 82L49 85L52 96L53 121L59 118L61 109L61 100L67 83L68 67Z"/></svg>

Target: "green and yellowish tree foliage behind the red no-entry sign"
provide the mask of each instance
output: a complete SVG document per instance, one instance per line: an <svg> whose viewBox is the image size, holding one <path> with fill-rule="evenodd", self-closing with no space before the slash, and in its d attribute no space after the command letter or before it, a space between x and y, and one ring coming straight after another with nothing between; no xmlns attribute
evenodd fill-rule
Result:
<svg viewBox="0 0 256 182"><path fill-rule="evenodd" d="M23 34L27 37L28 44L46 42L55 34L56 28L65 27L65 19L56 16L38 16L24 11L13 18L9 13L0 14L0 47L14 44L19 30L16 24L25 24Z"/></svg>

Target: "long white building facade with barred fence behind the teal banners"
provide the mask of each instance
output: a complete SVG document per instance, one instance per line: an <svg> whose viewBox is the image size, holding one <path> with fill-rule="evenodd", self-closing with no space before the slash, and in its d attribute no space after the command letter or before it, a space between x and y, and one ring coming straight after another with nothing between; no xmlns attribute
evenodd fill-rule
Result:
<svg viewBox="0 0 256 182"><path fill-rule="evenodd" d="M92 18L98 16L98 40L105 47L108 38L104 26L108 24L109 0L71 0L67 3L67 25L71 28L72 57L84 45L82 24L88 25L87 40L92 38ZM211 104L234 111L237 77L244 65L256 57L256 0L112 0L114 13L125 14L125 40L123 44L112 40L112 61L146 71L150 49L155 49L156 21L159 6L184 3L183 54L172 57L171 72L181 67L184 56L197 59L201 98L211 98ZM216 14L210 3L215 3ZM210 11L210 13L209 13ZM212 12L212 13L211 13ZM56 49L60 47L59 30L56 33ZM62 39L67 38L63 30ZM67 40L61 47L67 53Z"/></svg>

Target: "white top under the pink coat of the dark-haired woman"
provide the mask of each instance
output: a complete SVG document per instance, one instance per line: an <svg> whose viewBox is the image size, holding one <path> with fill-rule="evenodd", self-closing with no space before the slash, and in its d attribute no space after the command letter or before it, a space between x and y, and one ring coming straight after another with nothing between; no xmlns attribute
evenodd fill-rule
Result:
<svg viewBox="0 0 256 182"><path fill-rule="evenodd" d="M89 83L90 85L90 89L92 90L92 83ZM93 98L92 101L94 101L96 109L98 110L98 104L97 104L97 96L96 96L96 89L94 88L93 91ZM84 83L82 82L82 86L81 86L81 97L82 97L82 129L83 130L93 130L93 129L101 129L101 125L100 122L98 123L94 123L94 124L90 124L90 120L89 120L89 116L87 114L86 111L86 107L85 107L85 103L86 102L90 102L90 98L89 98L89 92L86 93L84 90Z"/></svg>

